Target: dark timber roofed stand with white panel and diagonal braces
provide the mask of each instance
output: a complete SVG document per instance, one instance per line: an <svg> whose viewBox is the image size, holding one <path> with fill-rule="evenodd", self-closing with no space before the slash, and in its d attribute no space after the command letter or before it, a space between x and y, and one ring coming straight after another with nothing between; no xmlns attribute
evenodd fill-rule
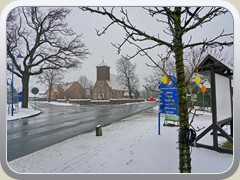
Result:
<svg viewBox="0 0 240 180"><path fill-rule="evenodd" d="M232 149L219 146L218 137L222 136L233 144L233 71L213 56L207 55L200 63L198 72L210 77L212 121L211 125L196 137L195 146L232 153ZM226 125L230 126L230 130L226 131ZM212 135L211 145L200 142L208 133Z"/></svg>

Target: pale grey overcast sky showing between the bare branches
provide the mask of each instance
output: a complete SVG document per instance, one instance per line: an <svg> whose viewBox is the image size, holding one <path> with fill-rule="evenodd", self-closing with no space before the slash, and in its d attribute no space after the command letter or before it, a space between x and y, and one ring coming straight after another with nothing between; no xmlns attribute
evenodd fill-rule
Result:
<svg viewBox="0 0 240 180"><path fill-rule="evenodd" d="M146 10L141 7L128 8L130 20L140 29L144 29L147 33L157 36L162 36L165 40L170 40L170 37L163 33L163 24L158 23L154 18L148 15ZM69 26L73 28L78 34L83 33L83 42L89 48L92 53L85 59L82 66L78 70L71 70L65 75L64 81L71 82L77 81L81 75L86 75L88 79L95 83L96 81L96 66L104 62L110 66L110 73L117 74L116 72L116 60L120 58L117 54L117 49L111 45L111 43L122 43L125 33L119 26L112 26L104 35L97 36L96 30L102 30L110 22L109 18L94 13L83 12L77 7L72 8L72 12L68 17L67 21ZM220 34L222 30L226 33L233 31L233 18L230 13L217 17L210 23L206 23L202 28L197 28L192 31L191 34L187 34L184 37L185 42L189 41L190 35L192 41L199 41L205 38L212 38ZM233 47L225 48L224 52L227 52L229 57L233 56ZM134 54L136 52L135 47L126 45L122 49L122 54ZM154 60L159 61L157 54L165 54L165 48L158 48L150 52ZM152 69L146 66L146 63L151 64L147 57L137 56L131 60L133 63L137 63L136 73L140 79L140 85L144 84L143 78L152 74ZM31 78L30 88L33 86L39 87L43 90L40 85L35 85L33 82L34 78ZM16 82L17 83L17 82ZM19 83L17 83L19 84ZM18 85L19 86L19 85ZM141 87L142 89L142 87Z"/></svg>

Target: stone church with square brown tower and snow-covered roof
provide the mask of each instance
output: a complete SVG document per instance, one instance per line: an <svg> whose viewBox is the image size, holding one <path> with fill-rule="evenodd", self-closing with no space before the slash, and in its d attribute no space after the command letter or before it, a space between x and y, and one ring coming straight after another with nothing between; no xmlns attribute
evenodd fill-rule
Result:
<svg viewBox="0 0 240 180"><path fill-rule="evenodd" d="M110 67L103 61L97 69L97 81L93 86L93 100L121 99L125 90L117 83L117 75L110 74Z"/></svg>

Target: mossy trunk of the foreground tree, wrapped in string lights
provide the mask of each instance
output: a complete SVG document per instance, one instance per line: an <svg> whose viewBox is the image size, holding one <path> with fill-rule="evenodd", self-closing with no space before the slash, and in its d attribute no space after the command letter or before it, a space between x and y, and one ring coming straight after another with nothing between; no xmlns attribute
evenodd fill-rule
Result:
<svg viewBox="0 0 240 180"><path fill-rule="evenodd" d="M185 83L185 72L183 64L183 43L181 29L181 7L176 7L175 16L175 39L174 54L176 57L178 97L179 97L179 170L180 173L191 173L191 158L189 144L186 143L185 135L189 130L187 86ZM178 15L179 14L179 15Z"/></svg>

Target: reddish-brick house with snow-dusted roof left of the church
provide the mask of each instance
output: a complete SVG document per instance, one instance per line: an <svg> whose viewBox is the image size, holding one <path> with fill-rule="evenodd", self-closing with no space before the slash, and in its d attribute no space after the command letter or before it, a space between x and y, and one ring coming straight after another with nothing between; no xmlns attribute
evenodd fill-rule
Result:
<svg viewBox="0 0 240 180"><path fill-rule="evenodd" d="M45 94L48 95L49 90ZM51 100L82 99L84 97L86 97L86 89L78 81L54 84L51 91ZM47 96L47 99L49 99L49 96Z"/></svg>

